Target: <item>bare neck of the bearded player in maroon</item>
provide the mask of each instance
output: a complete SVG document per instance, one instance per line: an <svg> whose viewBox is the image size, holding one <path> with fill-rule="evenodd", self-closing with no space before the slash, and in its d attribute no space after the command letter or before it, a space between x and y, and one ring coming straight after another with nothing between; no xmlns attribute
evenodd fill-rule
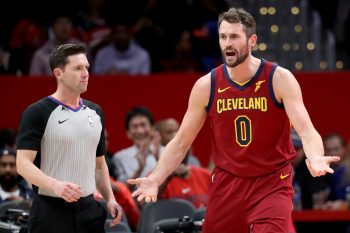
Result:
<svg viewBox="0 0 350 233"><path fill-rule="evenodd" d="M255 75L256 71L259 69L260 63L260 59L250 55L238 66L233 68L227 67L227 71L232 81L245 83Z"/></svg>

